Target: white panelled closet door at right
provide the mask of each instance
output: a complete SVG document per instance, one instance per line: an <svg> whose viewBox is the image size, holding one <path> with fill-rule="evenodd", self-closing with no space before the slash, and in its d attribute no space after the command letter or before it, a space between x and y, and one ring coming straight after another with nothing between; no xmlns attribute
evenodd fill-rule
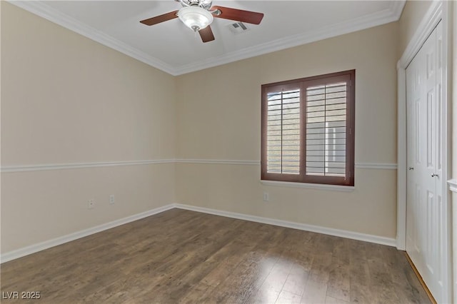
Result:
<svg viewBox="0 0 457 304"><path fill-rule="evenodd" d="M440 23L406 69L406 252L438 303L443 302L446 291L441 32Z"/></svg>

